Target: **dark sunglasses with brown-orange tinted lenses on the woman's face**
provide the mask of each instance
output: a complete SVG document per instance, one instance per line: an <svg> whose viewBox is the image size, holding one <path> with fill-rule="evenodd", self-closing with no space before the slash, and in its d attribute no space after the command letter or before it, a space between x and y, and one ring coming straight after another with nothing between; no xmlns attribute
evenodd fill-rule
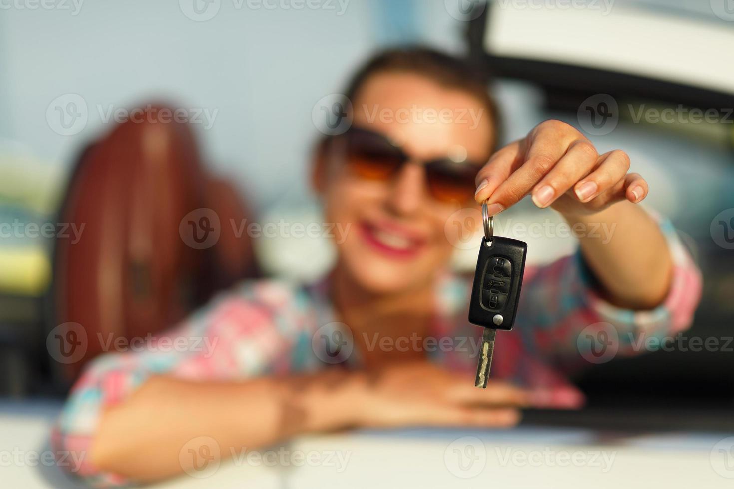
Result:
<svg viewBox="0 0 734 489"><path fill-rule="evenodd" d="M481 164L448 156L416 161L384 134L355 126L335 138L344 144L346 165L366 180L390 180L411 161L424 167L429 193L435 199L441 202L466 202L474 196L474 179L482 168Z"/></svg>

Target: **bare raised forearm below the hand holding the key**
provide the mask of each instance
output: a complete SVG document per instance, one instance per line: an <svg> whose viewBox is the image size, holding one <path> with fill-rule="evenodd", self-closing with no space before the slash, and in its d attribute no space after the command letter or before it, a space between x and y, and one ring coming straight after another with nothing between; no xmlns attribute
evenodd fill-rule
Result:
<svg viewBox="0 0 734 489"><path fill-rule="evenodd" d="M658 224L641 207L618 202L598 213L564 216L580 229L581 253L606 299L628 309L652 309L664 300L672 277L672 257ZM597 227L598 226L598 227Z"/></svg>

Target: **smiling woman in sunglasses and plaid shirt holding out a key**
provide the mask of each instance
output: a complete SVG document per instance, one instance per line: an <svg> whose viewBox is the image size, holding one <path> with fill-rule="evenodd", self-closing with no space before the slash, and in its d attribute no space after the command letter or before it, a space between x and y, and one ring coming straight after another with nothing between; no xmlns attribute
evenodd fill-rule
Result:
<svg viewBox="0 0 734 489"><path fill-rule="evenodd" d="M333 271L305 286L244 284L168 335L209 339L209 350L93 362L59 419L57 441L85 455L73 469L96 483L170 477L191 469L179 455L201 435L226 454L341 427L509 427L526 406L581 405L560 366L578 363L587 326L614 324L622 351L639 334L686 328L697 270L671 228L637 205L647 183L628 173L627 155L598 154L559 121L495 152L486 87L426 49L368 62L345 92L352 127L314 158L325 221L350 229ZM455 117L415 115L429 113ZM481 329L466 320L470 280L447 271L458 237L445 224L462 207L487 201L495 215L527 194L572 227L614 232L528 267L515 329L501 335L487 389L476 389L476 350L459 345L476 345Z"/></svg>

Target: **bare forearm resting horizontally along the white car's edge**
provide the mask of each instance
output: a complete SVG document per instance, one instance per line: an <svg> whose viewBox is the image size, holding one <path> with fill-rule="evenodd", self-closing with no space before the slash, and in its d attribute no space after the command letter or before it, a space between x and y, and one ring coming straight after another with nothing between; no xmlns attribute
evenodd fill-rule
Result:
<svg viewBox="0 0 734 489"><path fill-rule="evenodd" d="M90 457L101 470L139 482L170 477L183 471L179 452L193 438L214 439L228 458L243 448L350 424L354 384L341 371L226 383L150 378L103 413Z"/></svg>

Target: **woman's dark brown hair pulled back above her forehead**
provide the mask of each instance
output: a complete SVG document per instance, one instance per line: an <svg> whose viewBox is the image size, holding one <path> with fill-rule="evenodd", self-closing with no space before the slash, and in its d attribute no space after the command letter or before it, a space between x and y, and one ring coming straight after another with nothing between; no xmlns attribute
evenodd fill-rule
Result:
<svg viewBox="0 0 734 489"><path fill-rule="evenodd" d="M349 80L344 95L349 100L355 100L368 78L377 73L387 72L407 72L425 76L443 87L459 89L480 100L492 122L490 152L494 152L500 139L501 128L497 106L489 92L491 77L487 70L470 64L467 59L432 48L393 48L381 51L368 59Z"/></svg>

